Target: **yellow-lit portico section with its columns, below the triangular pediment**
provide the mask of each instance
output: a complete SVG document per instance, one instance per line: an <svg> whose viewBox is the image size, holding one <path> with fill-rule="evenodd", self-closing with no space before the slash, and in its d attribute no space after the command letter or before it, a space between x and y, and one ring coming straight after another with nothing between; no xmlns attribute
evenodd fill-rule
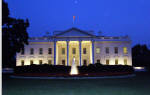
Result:
<svg viewBox="0 0 150 95"><path fill-rule="evenodd" d="M78 66L94 63L91 41L57 41L55 44L56 59L54 60L56 61L54 61L54 64L56 65L59 63L71 65L73 57L75 57L75 63Z"/></svg>

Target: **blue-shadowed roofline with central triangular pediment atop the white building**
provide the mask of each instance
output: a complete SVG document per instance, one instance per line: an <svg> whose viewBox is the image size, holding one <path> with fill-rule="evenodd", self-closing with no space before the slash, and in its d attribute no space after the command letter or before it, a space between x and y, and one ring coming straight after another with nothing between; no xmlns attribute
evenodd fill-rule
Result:
<svg viewBox="0 0 150 95"><path fill-rule="evenodd" d="M108 37L96 36L92 31L83 31L78 28L72 27L65 31L55 31L53 35L43 37L30 37L29 41L53 41L53 40L97 40L97 41L131 41L128 36L122 37Z"/></svg>

